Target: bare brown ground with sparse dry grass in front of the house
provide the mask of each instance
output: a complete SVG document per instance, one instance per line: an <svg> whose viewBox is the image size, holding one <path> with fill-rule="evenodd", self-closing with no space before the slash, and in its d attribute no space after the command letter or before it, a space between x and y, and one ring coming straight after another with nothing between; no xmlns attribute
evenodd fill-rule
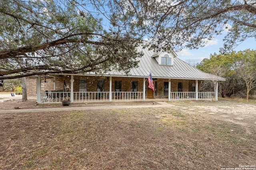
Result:
<svg viewBox="0 0 256 170"><path fill-rule="evenodd" d="M255 102L170 103L175 107L0 114L0 169L256 169ZM128 104L152 103L86 106ZM0 103L15 106L70 107Z"/></svg>

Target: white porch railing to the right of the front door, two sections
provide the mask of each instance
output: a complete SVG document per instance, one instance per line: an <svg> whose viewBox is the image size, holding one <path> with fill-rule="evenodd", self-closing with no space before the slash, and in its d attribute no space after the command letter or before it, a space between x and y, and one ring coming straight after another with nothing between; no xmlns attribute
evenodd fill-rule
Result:
<svg viewBox="0 0 256 170"><path fill-rule="evenodd" d="M214 92L198 92L198 100L216 99ZM171 92L171 100L196 100L196 92Z"/></svg>

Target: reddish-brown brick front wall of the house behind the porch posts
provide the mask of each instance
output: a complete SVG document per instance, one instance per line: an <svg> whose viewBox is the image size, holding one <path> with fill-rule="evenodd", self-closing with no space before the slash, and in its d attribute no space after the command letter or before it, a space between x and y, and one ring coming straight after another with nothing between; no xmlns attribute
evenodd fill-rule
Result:
<svg viewBox="0 0 256 170"><path fill-rule="evenodd" d="M54 90L54 77L44 77L41 80L46 80L46 82L41 82L41 91L45 90ZM87 91L88 92L97 92L97 80L104 80L104 91L109 92L109 77L101 77L101 76L74 76L74 92L79 92L79 80L87 81ZM144 78L130 78L130 77L112 77L112 92L115 91L115 81L122 81L121 91L122 92L130 92L132 90L132 82L138 82L138 92L143 92L143 80ZM27 77L27 92L28 96L36 96L36 81L37 77ZM153 79L154 81L154 96L155 98L167 98L167 95L164 95L164 82L168 84L169 79L167 78L157 78ZM195 90L195 80L179 80L179 79L171 79L171 92L178 92L178 84L182 83L182 91L183 92L193 92ZM66 85L66 86L65 86ZM55 90L63 90L70 91L70 76L60 76L56 77ZM146 82L147 86L147 82ZM200 86L200 82L198 82L198 86ZM198 91L200 91L200 87L198 87ZM146 91L147 94L147 91Z"/></svg>

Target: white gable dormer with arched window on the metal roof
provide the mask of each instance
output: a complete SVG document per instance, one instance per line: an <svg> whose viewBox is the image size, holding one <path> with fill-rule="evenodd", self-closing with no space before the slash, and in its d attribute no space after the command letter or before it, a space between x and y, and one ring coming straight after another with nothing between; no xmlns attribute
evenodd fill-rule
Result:
<svg viewBox="0 0 256 170"><path fill-rule="evenodd" d="M155 58L159 65L173 66L174 57L177 57L177 55L173 50L171 52L161 50L159 52L154 52L151 57Z"/></svg>

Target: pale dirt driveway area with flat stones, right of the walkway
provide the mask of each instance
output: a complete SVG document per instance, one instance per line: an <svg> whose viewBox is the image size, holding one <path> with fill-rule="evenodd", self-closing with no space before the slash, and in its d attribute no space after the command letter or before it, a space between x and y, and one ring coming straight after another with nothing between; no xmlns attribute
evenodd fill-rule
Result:
<svg viewBox="0 0 256 170"><path fill-rule="evenodd" d="M219 100L216 102L181 102L176 105L187 113L202 113L214 119L239 124L245 127L256 125L256 103L238 100Z"/></svg>

